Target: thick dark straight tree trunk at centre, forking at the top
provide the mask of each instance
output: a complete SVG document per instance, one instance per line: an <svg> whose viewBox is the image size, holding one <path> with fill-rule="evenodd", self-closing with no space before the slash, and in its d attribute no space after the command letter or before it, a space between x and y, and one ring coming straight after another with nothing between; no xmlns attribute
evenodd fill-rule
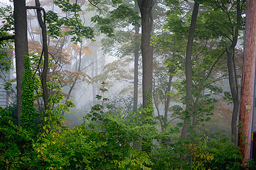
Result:
<svg viewBox="0 0 256 170"><path fill-rule="evenodd" d="M141 14L141 52L142 52L142 98L143 108L147 105L147 97L152 98L153 84L153 55L150 44L152 31L153 0L138 0ZM148 93L148 96L146 94Z"/></svg>

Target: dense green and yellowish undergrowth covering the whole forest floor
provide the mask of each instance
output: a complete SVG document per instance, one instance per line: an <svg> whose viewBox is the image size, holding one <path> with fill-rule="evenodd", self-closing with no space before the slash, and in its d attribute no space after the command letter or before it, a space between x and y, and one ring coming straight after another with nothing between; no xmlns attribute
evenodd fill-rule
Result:
<svg viewBox="0 0 256 170"><path fill-rule="evenodd" d="M48 132L18 130L1 111L1 169L242 169L237 147L221 134L180 139L177 128L159 131L151 116L93 107L80 126ZM183 159L181 159L181 157Z"/></svg>

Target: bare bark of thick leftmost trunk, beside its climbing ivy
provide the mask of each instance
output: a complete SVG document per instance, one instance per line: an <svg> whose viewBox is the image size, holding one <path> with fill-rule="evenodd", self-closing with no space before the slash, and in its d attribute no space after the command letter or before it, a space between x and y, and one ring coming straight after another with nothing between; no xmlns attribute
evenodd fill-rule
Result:
<svg viewBox="0 0 256 170"><path fill-rule="evenodd" d="M26 1L13 1L14 4L14 31L15 31L15 58L17 81L17 123L20 127L20 106L22 104L22 77L25 71L24 56L28 55L27 12Z"/></svg>

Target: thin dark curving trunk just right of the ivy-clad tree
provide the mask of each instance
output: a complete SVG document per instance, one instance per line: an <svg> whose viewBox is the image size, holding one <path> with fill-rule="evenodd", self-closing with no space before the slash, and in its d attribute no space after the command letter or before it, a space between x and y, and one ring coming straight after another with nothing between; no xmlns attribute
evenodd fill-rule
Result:
<svg viewBox="0 0 256 170"><path fill-rule="evenodd" d="M37 8L40 7L39 0L35 0L35 5ZM49 61L49 54L48 54L48 45L47 45L47 31L46 31L46 24L42 20L41 9L36 9L37 19L42 30L42 50L44 51L44 68L42 69L41 74L41 84L42 84L42 93L44 97L45 103L45 110L49 110L48 105L48 89L47 89L47 72L48 72L48 61Z"/></svg>

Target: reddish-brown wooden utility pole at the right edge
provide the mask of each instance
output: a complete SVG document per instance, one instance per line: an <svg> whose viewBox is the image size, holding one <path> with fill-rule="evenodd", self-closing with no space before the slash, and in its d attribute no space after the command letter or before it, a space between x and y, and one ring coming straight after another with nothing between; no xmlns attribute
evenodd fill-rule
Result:
<svg viewBox="0 0 256 170"><path fill-rule="evenodd" d="M256 0L249 0L246 4L245 23L245 44L244 63L241 87L241 105L239 122L241 122L238 132L238 146L241 149L245 165L245 159L250 159L251 147L251 126L252 108L255 78L255 57L256 57Z"/></svg>

